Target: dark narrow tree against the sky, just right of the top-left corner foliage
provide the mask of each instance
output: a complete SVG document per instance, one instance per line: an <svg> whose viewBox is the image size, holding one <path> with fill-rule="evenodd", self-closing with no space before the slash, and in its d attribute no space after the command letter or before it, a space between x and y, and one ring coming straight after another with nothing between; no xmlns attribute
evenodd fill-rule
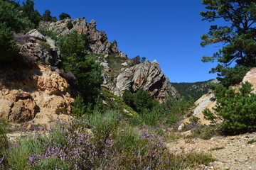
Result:
<svg viewBox="0 0 256 170"><path fill-rule="evenodd" d="M40 13L34 9L35 2L33 0L26 0L26 2L22 2L23 6L21 6L22 16L24 18L28 18L31 23L33 23L34 28L37 28L39 22L42 19Z"/></svg>

